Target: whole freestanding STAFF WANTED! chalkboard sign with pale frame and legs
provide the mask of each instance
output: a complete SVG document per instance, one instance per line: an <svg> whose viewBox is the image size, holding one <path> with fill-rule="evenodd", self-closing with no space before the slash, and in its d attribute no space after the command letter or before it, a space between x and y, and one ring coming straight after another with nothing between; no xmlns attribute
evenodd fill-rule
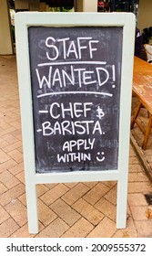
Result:
<svg viewBox="0 0 152 256"><path fill-rule="evenodd" d="M15 41L29 233L36 185L117 181L126 228L135 41L130 13L18 13Z"/></svg>

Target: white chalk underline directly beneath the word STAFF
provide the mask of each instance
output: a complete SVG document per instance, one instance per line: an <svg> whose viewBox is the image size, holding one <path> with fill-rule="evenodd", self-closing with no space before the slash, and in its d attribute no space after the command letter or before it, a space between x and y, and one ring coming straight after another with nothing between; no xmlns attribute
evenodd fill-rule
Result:
<svg viewBox="0 0 152 256"><path fill-rule="evenodd" d="M40 63L37 66L43 67L43 66L54 66L54 65L71 65L71 64L92 64L92 65L106 65L106 61L65 61L65 62L46 62L46 63Z"/></svg>

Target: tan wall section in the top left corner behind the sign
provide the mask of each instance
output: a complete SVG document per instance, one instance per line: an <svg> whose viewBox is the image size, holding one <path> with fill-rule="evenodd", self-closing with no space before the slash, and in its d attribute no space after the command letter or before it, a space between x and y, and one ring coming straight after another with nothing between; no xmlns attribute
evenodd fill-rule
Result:
<svg viewBox="0 0 152 256"><path fill-rule="evenodd" d="M10 15L7 0L0 0L0 55L13 54Z"/></svg>

